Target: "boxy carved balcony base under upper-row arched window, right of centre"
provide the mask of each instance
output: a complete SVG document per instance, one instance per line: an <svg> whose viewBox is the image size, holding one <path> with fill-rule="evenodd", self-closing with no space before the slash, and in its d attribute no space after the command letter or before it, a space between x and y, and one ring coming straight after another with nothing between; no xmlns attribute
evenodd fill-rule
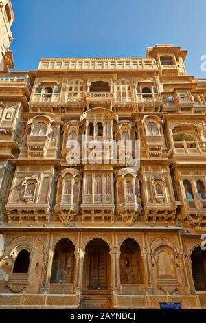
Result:
<svg viewBox="0 0 206 323"><path fill-rule="evenodd" d="M146 136L146 146L148 157L161 157L163 153L163 137Z"/></svg>

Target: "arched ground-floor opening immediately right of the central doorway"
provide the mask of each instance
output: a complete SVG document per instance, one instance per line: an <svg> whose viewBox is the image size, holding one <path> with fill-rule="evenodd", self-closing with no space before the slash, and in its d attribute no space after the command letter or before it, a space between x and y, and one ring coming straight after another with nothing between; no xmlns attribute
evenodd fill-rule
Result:
<svg viewBox="0 0 206 323"><path fill-rule="evenodd" d="M144 284L140 247L132 238L123 241L120 255L120 281L124 284Z"/></svg>

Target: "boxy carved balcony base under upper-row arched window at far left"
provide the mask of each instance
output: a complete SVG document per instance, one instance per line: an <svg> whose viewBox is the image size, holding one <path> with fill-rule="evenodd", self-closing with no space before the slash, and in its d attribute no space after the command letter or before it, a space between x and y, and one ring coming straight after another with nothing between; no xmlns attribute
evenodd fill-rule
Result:
<svg viewBox="0 0 206 323"><path fill-rule="evenodd" d="M27 136L28 157L45 157L47 136Z"/></svg>

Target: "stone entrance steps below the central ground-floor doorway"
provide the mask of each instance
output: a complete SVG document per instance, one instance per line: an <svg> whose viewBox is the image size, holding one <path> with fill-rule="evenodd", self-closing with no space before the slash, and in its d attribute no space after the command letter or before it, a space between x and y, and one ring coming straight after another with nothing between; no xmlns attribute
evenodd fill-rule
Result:
<svg viewBox="0 0 206 323"><path fill-rule="evenodd" d="M113 309L111 296L82 296L82 309Z"/></svg>

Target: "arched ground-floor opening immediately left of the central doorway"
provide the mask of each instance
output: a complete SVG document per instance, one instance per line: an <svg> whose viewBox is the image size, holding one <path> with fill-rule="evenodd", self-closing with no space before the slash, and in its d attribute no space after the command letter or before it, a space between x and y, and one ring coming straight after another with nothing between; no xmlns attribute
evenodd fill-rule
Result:
<svg viewBox="0 0 206 323"><path fill-rule="evenodd" d="M52 263L51 283L73 284L75 264L74 249L73 242L67 238L63 238L56 243Z"/></svg>

